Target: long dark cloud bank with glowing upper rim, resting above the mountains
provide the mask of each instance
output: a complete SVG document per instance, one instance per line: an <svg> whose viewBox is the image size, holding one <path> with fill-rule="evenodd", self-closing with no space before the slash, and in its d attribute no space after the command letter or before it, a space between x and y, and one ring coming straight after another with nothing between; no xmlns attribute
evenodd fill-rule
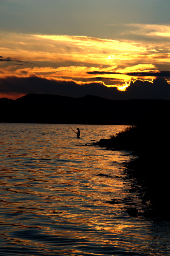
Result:
<svg viewBox="0 0 170 256"><path fill-rule="evenodd" d="M70 97L82 97L87 94L108 99L167 99L170 100L170 84L163 77L149 81L131 81L126 91L116 87L107 87L102 82L79 85L73 81L54 81L39 77L0 79L0 93L13 94L58 94Z"/></svg>

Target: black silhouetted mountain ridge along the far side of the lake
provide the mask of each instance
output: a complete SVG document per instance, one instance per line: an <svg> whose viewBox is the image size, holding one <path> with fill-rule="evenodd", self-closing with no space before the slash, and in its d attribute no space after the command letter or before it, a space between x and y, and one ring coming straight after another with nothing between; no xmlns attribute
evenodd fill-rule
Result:
<svg viewBox="0 0 170 256"><path fill-rule="evenodd" d="M16 100L2 98L0 106L0 122L7 123L136 125L165 122L170 111L168 100L109 100L91 95L28 94Z"/></svg>

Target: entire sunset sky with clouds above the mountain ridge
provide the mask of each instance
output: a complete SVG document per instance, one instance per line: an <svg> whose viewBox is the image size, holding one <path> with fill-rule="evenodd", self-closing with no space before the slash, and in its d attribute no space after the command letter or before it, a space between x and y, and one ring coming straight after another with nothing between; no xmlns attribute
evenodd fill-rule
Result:
<svg viewBox="0 0 170 256"><path fill-rule="evenodd" d="M169 0L0 0L0 98L170 100Z"/></svg>

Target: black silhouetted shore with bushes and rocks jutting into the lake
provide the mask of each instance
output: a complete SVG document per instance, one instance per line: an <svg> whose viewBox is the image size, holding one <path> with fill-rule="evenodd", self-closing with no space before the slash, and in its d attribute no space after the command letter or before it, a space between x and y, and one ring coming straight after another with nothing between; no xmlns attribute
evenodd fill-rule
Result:
<svg viewBox="0 0 170 256"><path fill-rule="evenodd" d="M132 190L143 204L147 204L142 215L155 221L170 221L170 134L165 116L160 120L161 123L157 119L153 122L150 118L147 124L128 127L96 144L112 150L134 151L137 158L125 163L125 174L129 180L135 178Z"/></svg>

